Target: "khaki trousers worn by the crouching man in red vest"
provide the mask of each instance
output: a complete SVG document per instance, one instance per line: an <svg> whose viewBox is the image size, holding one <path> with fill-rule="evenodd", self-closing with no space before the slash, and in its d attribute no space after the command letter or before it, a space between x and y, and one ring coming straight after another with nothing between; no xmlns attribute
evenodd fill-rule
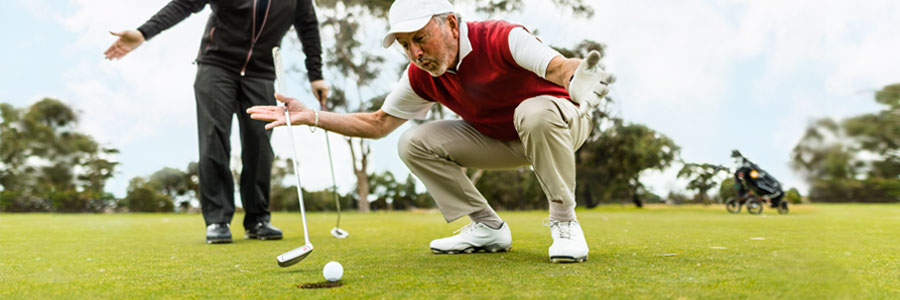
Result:
<svg viewBox="0 0 900 300"><path fill-rule="evenodd" d="M516 107L514 122L520 140L493 139L462 120L425 123L400 137L400 158L428 188L447 222L488 206L461 167L531 165L551 209L574 211L575 150L591 132L590 117L581 116L569 100L537 96Z"/></svg>

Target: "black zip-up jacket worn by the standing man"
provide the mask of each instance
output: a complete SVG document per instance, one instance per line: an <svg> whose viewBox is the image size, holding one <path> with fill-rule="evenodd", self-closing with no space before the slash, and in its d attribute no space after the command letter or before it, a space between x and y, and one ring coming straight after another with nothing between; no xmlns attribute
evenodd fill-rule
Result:
<svg viewBox="0 0 900 300"><path fill-rule="evenodd" d="M281 45L284 34L294 25L306 54L309 80L322 79L319 22L312 0L269 0L268 11L259 14L257 1L173 0L138 30L150 40L209 3L212 15L206 23L197 62L224 67L241 76L274 79L272 47ZM261 21L255 19L257 15L263 16Z"/></svg>

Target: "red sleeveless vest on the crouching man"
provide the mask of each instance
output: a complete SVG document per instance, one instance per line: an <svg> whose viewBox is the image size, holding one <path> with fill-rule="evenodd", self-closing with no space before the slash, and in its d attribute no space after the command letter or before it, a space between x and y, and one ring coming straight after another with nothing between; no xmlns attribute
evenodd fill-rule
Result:
<svg viewBox="0 0 900 300"><path fill-rule="evenodd" d="M520 67L513 59L509 32L521 25L496 20L466 24L472 52L456 74L432 77L409 64L409 82L419 97L443 104L479 132L502 141L519 139L513 114L525 99L540 95L570 99L565 88Z"/></svg>

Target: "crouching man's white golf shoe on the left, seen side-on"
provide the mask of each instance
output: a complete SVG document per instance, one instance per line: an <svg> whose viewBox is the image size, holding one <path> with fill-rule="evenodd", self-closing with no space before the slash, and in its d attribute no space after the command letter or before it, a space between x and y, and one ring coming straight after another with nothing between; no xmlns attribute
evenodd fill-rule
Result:
<svg viewBox="0 0 900 300"><path fill-rule="evenodd" d="M459 234L431 241L431 251L436 254L503 252L512 247L512 234L506 222L500 229L472 222L456 232Z"/></svg>

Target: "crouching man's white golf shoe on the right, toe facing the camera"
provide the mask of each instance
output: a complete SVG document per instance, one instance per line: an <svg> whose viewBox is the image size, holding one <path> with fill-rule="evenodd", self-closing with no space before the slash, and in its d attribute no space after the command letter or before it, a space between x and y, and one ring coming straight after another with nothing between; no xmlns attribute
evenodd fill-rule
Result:
<svg viewBox="0 0 900 300"><path fill-rule="evenodd" d="M583 262L587 260L588 247L584 240L584 231L578 221L559 222L545 219L544 225L550 227L553 245L550 245L550 262Z"/></svg>

